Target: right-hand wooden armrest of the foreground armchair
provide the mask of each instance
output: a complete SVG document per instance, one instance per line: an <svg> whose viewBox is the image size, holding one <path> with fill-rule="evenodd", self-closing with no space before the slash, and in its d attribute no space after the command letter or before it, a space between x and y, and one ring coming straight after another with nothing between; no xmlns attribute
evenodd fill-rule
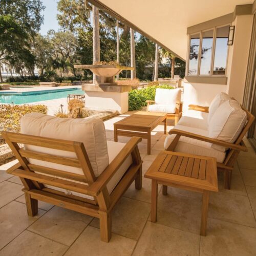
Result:
<svg viewBox="0 0 256 256"><path fill-rule="evenodd" d="M133 152L133 150L141 140L142 139L140 137L132 137L118 153L115 159L109 164L109 166L103 170L97 180L89 185L89 189L95 196L97 196L100 191L106 186L106 184L108 184L108 182L117 172L121 164Z"/></svg>

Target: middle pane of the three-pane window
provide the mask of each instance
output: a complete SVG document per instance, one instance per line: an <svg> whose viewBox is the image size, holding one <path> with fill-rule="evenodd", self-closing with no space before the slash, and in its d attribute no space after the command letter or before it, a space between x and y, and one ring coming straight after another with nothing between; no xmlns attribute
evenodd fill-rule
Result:
<svg viewBox="0 0 256 256"><path fill-rule="evenodd" d="M213 30L203 32L200 75L210 75L213 36Z"/></svg>

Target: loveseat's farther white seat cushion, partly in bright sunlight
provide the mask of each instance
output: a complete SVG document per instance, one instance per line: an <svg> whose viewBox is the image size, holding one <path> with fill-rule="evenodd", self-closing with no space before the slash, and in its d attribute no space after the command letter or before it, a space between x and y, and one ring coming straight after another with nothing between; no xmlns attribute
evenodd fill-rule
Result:
<svg viewBox="0 0 256 256"><path fill-rule="evenodd" d="M182 115L178 124L208 131L208 113L196 110L187 110Z"/></svg>

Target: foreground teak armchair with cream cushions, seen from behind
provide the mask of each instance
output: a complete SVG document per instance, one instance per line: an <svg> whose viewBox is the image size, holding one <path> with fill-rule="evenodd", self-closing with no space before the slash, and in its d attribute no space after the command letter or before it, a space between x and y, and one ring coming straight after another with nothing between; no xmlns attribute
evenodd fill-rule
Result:
<svg viewBox="0 0 256 256"><path fill-rule="evenodd" d="M21 130L3 137L19 161L7 172L23 182L28 215L37 214L37 200L78 211L99 218L101 240L109 242L113 207L133 181L142 186L141 138L107 142L100 119L39 113L22 117Z"/></svg>

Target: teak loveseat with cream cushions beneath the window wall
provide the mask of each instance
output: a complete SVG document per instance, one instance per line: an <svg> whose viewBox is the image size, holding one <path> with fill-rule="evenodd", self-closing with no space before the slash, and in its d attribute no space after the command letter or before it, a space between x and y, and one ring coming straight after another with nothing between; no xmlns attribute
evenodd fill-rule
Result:
<svg viewBox="0 0 256 256"><path fill-rule="evenodd" d="M169 131L164 147L216 157L218 170L224 172L224 187L230 189L233 165L240 151L248 151L242 139L253 121L254 116L239 102L221 93L209 107L189 105L178 125Z"/></svg>

